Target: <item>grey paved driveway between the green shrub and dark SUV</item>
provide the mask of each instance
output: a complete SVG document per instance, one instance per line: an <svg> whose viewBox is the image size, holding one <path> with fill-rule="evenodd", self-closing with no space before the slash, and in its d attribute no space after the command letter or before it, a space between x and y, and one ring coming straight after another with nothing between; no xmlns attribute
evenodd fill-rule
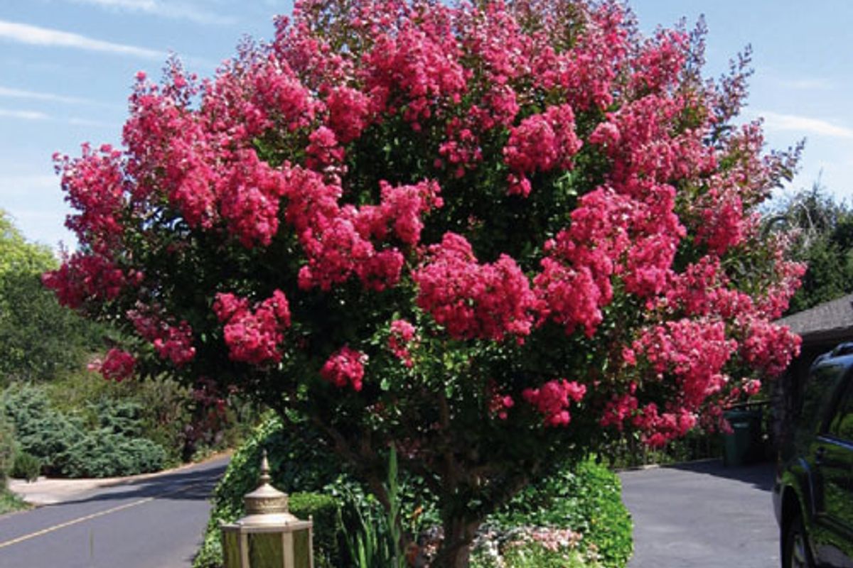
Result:
<svg viewBox="0 0 853 568"><path fill-rule="evenodd" d="M778 568L774 466L696 462L620 473L634 517L629 568Z"/></svg>

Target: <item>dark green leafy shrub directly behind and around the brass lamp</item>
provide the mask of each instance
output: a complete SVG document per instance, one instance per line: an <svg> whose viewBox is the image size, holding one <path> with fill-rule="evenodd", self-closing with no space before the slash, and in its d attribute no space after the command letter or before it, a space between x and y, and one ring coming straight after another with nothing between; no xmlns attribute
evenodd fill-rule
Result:
<svg viewBox="0 0 853 568"><path fill-rule="evenodd" d="M322 491L339 477L339 461L324 450L310 427L296 424L285 428L281 418L270 415L231 457L223 479L213 491L211 519L194 568L222 565L219 524L233 522L243 515L243 496L258 486L263 450L268 452L273 485L290 494L291 512L300 519L314 516L317 568L342 565L338 500L326 494L296 492Z"/></svg>

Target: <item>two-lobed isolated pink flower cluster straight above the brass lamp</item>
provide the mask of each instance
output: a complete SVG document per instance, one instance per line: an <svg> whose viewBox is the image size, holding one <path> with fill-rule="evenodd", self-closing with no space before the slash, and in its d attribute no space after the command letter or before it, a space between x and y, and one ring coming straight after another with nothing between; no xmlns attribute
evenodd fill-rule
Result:
<svg viewBox="0 0 853 568"><path fill-rule="evenodd" d="M284 330L290 327L290 306L281 290L255 304L253 311L246 298L220 292L213 311L225 324L224 339L231 359L257 365L281 361L278 346L284 340Z"/></svg>

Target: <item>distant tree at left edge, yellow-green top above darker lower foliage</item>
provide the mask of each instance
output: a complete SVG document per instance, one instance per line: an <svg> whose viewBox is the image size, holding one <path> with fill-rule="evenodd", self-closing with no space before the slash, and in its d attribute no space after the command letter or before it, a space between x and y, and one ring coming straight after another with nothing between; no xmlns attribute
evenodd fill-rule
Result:
<svg viewBox="0 0 853 568"><path fill-rule="evenodd" d="M99 345L101 326L60 306L42 286L40 273L58 265L0 210L0 386L78 369Z"/></svg>

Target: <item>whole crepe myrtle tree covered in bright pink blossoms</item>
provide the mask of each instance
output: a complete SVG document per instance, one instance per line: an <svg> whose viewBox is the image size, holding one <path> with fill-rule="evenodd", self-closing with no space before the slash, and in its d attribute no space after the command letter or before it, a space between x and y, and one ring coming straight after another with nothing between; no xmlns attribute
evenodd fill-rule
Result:
<svg viewBox="0 0 853 568"><path fill-rule="evenodd" d="M103 370L308 417L436 566L551 464L722 421L798 350L803 267L757 206L798 151L732 124L746 60L617 3L296 3L214 77L136 77L124 146L57 157L79 249L44 283L125 330ZM133 353L132 355L130 353Z"/></svg>

